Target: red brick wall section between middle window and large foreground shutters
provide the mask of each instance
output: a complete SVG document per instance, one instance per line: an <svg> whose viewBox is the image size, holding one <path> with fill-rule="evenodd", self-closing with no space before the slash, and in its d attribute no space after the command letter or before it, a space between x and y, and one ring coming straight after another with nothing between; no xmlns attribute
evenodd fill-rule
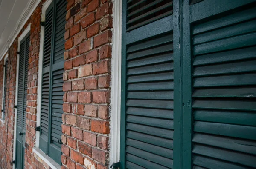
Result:
<svg viewBox="0 0 256 169"><path fill-rule="evenodd" d="M107 169L111 0L69 0L66 15L63 169Z"/></svg>

